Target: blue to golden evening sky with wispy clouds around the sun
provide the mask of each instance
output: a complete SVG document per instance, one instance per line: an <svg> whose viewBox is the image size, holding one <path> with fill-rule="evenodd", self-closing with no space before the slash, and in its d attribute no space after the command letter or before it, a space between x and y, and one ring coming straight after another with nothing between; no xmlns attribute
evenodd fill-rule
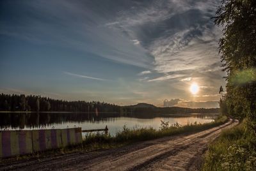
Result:
<svg viewBox="0 0 256 171"><path fill-rule="evenodd" d="M0 1L0 93L218 107L218 3Z"/></svg>

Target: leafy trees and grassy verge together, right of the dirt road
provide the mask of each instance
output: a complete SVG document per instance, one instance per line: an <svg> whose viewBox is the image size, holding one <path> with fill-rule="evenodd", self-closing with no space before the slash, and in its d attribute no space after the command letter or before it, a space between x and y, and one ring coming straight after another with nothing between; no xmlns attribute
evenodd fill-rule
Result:
<svg viewBox="0 0 256 171"><path fill-rule="evenodd" d="M227 71L220 111L246 120L210 145L202 170L256 170L256 1L223 0L214 19L223 26L219 45Z"/></svg>

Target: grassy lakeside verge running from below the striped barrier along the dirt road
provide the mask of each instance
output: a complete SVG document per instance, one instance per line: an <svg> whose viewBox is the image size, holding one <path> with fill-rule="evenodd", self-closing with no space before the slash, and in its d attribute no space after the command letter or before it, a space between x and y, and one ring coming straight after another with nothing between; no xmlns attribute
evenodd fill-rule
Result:
<svg viewBox="0 0 256 171"><path fill-rule="evenodd" d="M193 124L189 126L170 126L168 128L164 128L163 130L154 130L154 129L145 129L141 128L138 130L125 129L120 132L115 137L104 135L104 134L89 134L83 140L83 145L76 145L75 147L67 147L64 149L54 149L45 152L35 152L33 154L22 155L12 158L4 158L2 167L12 164L12 162L23 163L23 161L35 160L40 161L44 160L44 158L54 158L57 156L69 156L72 154L79 155L83 153L85 156L88 155L88 152L102 152L106 149L113 149L116 151L119 147L121 148L129 148L131 145L137 148L137 145L147 143L148 141L158 141L161 139L172 138L172 137L184 137L190 136L195 133L199 133L201 131L205 131L206 135L209 134L207 130L209 129L218 129L218 126L222 124L227 124L228 118L221 117L217 119L214 123L207 124ZM158 142L157 142L158 144ZM191 146L193 147L193 146ZM39 159L39 160L38 160Z"/></svg>

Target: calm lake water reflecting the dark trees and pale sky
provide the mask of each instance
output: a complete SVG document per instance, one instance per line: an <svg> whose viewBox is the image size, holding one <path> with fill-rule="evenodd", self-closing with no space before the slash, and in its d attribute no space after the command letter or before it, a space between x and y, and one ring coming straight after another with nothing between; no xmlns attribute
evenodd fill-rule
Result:
<svg viewBox="0 0 256 171"><path fill-rule="evenodd" d="M111 135L127 128L153 127L162 121L182 125L210 123L217 114L154 115L154 114L87 114L87 113L0 113L1 130L35 130L81 127L82 130L102 129L108 125Z"/></svg>

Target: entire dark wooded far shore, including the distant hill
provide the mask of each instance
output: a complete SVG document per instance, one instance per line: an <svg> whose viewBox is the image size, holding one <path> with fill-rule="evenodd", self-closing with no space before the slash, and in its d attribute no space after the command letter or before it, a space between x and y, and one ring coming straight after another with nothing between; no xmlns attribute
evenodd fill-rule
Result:
<svg viewBox="0 0 256 171"><path fill-rule="evenodd" d="M88 112L120 114L216 114L219 108L155 107L147 103L118 106L100 101L65 101L24 94L0 94L0 111L32 112Z"/></svg>

